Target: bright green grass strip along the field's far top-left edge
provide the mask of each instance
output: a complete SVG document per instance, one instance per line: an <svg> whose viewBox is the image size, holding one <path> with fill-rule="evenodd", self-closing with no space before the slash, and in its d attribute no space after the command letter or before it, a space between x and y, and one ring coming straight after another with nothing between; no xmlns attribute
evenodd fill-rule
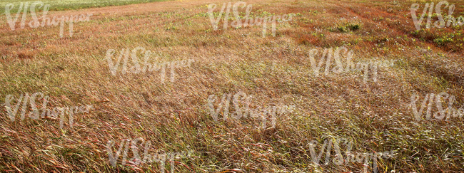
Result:
<svg viewBox="0 0 464 173"><path fill-rule="evenodd" d="M156 1L169 1L169 0L41 0L44 5L50 5L50 11L63 11L63 10L74 10L74 9L87 9L96 8L103 6L122 6L127 4L141 4ZM11 12L17 12L19 5L22 3L29 2L29 5L35 1L31 0L1 0L0 1L0 13L5 12L6 4L14 4L14 9ZM38 9L37 11L42 11Z"/></svg>

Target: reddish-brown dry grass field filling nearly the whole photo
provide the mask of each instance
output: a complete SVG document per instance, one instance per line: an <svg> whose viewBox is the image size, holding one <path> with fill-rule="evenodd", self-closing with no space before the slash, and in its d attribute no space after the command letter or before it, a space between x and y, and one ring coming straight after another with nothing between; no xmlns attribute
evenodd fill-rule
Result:
<svg viewBox="0 0 464 173"><path fill-rule="evenodd" d="M311 141L318 141L319 154L324 140L339 138L353 141L353 153L396 150L378 160L379 172L464 171L464 118L425 120L425 108L416 122L409 106L413 94L420 95L420 107L425 95L441 92L455 96L454 108L464 105L462 26L415 31L408 13L420 3L421 14L422 1L246 1L252 16L295 14L276 24L275 37L268 23L263 38L262 26L223 28L223 20L214 31L207 6L215 3L218 11L224 2L229 1L51 11L94 14L74 23L72 37L66 23L64 38L59 26L21 29L21 19L11 31L0 16L0 99L41 92L50 97L47 109L94 106L75 114L73 127L66 119L61 129L58 119L19 120L20 113L11 122L0 102L0 172L159 172L155 162L122 166L122 156L111 166L107 143L116 142L115 152L121 140L138 137L151 142L149 154L193 150L193 157L176 159L176 172L363 172L358 162L334 164L334 149L330 163L313 163ZM455 16L463 14L463 1L448 2L455 4ZM122 74L119 68L111 75L106 51L138 46L153 52L151 63L196 62L176 69L174 82L170 73L164 83L159 73ZM395 63L378 69L376 83L363 83L359 71L314 75L309 51L338 46L355 53L353 62ZM315 58L319 62L321 53ZM253 95L253 109L296 110L278 115L276 127L266 129L253 118L223 120L223 110L214 121L208 95L220 100L238 92ZM430 111L437 112L435 105ZM137 145L143 157L144 146ZM321 156L325 162L326 152Z"/></svg>

